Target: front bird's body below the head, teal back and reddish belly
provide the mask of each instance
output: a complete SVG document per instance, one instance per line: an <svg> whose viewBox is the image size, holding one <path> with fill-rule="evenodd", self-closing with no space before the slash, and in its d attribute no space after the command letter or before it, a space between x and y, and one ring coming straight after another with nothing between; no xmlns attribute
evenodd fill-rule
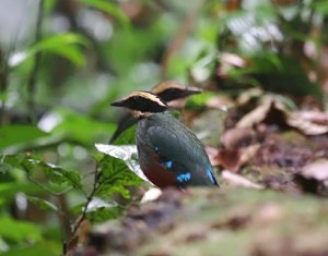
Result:
<svg viewBox="0 0 328 256"><path fill-rule="evenodd" d="M169 112L138 121L137 146L141 169L160 187L218 185L203 146Z"/></svg>

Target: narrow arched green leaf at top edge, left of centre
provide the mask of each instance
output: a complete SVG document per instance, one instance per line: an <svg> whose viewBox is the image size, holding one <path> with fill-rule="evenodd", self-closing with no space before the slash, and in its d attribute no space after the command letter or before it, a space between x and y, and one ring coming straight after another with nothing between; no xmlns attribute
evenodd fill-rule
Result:
<svg viewBox="0 0 328 256"><path fill-rule="evenodd" d="M105 1L105 0L79 0L79 1L86 5L104 11L112 16L115 16L126 28L129 27L130 25L130 21L128 16L120 10L118 5L115 5L109 1Z"/></svg>

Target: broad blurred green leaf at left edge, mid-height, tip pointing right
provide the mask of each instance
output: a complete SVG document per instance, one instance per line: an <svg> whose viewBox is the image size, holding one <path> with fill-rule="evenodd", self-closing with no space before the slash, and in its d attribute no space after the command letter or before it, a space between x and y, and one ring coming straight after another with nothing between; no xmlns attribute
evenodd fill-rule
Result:
<svg viewBox="0 0 328 256"><path fill-rule="evenodd" d="M33 125L11 124L0 127L0 149L27 144L48 134Z"/></svg>

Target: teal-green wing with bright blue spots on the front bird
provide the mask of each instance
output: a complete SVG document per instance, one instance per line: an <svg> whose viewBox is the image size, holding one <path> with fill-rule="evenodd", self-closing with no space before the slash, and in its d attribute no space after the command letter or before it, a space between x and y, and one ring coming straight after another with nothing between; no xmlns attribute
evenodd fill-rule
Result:
<svg viewBox="0 0 328 256"><path fill-rule="evenodd" d="M218 184L212 167L201 144L196 137L187 136L185 131L169 131L163 126L152 126L147 137L160 163L172 171L179 185Z"/></svg>

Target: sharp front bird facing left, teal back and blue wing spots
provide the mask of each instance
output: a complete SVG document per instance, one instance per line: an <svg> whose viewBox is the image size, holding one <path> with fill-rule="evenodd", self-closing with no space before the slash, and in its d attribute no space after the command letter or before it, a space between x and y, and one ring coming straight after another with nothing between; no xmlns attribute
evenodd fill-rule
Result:
<svg viewBox="0 0 328 256"><path fill-rule="evenodd" d="M167 103L138 90L112 103L127 108L137 121L140 168L157 187L219 186L209 157L196 135L174 118Z"/></svg>

